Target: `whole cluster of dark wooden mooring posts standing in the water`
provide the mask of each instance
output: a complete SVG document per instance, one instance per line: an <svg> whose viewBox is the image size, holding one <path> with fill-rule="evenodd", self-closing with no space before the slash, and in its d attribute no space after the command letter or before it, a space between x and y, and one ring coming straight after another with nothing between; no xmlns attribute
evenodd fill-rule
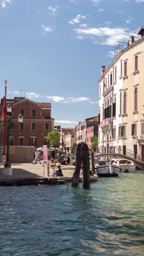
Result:
<svg viewBox="0 0 144 256"><path fill-rule="evenodd" d="M90 171L89 171L89 154L88 154L88 146L85 143L79 143L76 149L76 165L75 171L73 174L73 182L71 187L78 187L79 178L80 178L80 170L82 165L82 183L84 189L90 188Z"/></svg>

